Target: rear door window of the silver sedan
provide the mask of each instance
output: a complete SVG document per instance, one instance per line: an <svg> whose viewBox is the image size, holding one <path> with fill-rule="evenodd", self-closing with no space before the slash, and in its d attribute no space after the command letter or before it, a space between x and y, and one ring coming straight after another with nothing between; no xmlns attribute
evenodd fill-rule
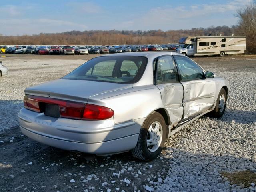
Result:
<svg viewBox="0 0 256 192"><path fill-rule="evenodd" d="M176 82L176 70L171 56L158 59L156 70L156 84Z"/></svg>

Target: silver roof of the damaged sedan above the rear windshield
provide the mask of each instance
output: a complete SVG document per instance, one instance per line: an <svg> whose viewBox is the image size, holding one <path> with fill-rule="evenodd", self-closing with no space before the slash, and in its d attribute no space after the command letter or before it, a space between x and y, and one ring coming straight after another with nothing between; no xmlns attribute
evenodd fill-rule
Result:
<svg viewBox="0 0 256 192"><path fill-rule="evenodd" d="M159 57L162 55L181 55L176 52L169 52L169 51L147 51L147 52L128 52L128 53L115 53L109 55L102 55L102 56L144 56L144 57ZM100 56L100 57L102 57Z"/></svg>

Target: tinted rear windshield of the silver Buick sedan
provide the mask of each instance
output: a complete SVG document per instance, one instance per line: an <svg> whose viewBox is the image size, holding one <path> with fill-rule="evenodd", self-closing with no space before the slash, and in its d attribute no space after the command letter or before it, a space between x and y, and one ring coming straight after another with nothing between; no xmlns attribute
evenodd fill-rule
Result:
<svg viewBox="0 0 256 192"><path fill-rule="evenodd" d="M140 80L147 64L142 56L96 57L76 68L62 79L130 84Z"/></svg>

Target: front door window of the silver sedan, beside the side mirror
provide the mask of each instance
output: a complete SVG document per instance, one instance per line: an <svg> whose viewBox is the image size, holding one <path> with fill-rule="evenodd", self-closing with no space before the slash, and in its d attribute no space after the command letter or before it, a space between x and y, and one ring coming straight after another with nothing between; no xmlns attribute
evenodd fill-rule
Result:
<svg viewBox="0 0 256 192"><path fill-rule="evenodd" d="M202 68L191 59L183 56L174 56L182 81L204 78Z"/></svg>

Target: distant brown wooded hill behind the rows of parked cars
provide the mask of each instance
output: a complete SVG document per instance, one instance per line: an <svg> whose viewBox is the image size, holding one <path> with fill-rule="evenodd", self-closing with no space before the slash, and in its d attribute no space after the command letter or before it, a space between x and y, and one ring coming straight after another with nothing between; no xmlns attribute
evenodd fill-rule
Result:
<svg viewBox="0 0 256 192"><path fill-rule="evenodd" d="M63 33L40 33L36 35L1 36L0 45L115 45L115 44L168 44L178 43L185 36L243 35L236 33L236 26L192 28L189 30L120 31L94 30Z"/></svg>

